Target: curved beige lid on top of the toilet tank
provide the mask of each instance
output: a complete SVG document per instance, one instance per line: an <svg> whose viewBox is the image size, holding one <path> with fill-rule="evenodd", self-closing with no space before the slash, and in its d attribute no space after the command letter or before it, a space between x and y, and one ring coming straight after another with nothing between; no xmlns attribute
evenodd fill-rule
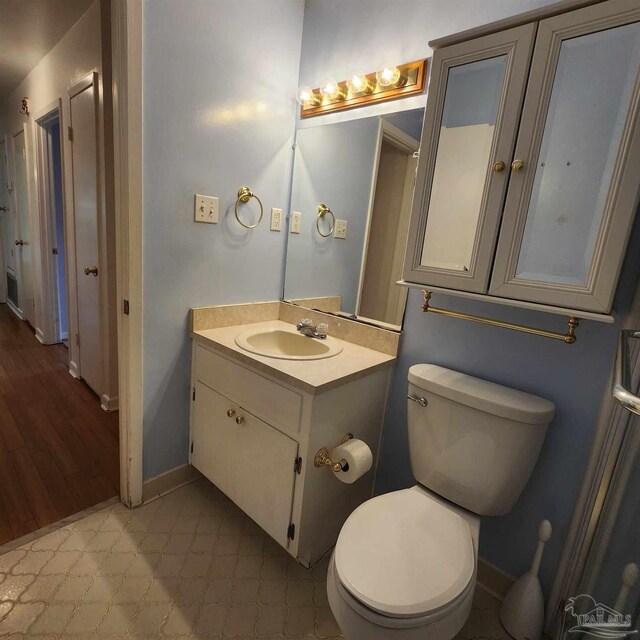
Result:
<svg viewBox="0 0 640 640"><path fill-rule="evenodd" d="M555 412L555 405L549 400L435 364L413 365L409 382L424 391L517 422L546 425Z"/></svg>

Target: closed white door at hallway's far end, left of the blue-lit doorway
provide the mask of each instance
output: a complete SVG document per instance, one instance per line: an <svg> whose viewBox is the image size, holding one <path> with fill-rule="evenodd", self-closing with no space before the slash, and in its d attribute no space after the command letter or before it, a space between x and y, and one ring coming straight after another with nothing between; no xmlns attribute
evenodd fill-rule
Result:
<svg viewBox="0 0 640 640"><path fill-rule="evenodd" d="M18 308L25 320L35 326L33 300L29 188L27 185L27 148L24 129L13 136L14 193L16 205L15 256L18 280Z"/></svg>

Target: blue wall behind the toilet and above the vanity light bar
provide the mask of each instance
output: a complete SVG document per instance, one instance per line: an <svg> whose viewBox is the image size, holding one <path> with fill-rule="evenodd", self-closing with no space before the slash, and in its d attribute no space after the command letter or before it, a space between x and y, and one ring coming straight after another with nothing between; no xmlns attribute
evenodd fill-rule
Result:
<svg viewBox="0 0 640 640"><path fill-rule="evenodd" d="M326 75L346 77L352 68L376 69L382 60L406 62L430 55L427 42L508 15L550 4L547 0L476 2L456 0L307 0L300 84L317 86ZM340 20L336 20L336 16ZM422 101L422 102L420 102ZM395 101L325 121L415 108L425 97ZM402 103L402 104L401 104ZM638 279L640 233L636 230L615 310L620 318ZM602 394L614 355L619 323L582 322L578 342L565 344L508 330L422 313L421 294L409 295L400 359L393 380L378 470L379 492L413 483L406 428L408 368L433 362L553 400L557 416L538 466L513 512L485 518L481 555L504 571L525 572L533 555L539 521L549 518L554 535L547 545L541 578L548 595L580 485ZM438 306L522 324L564 327L561 316L489 303L435 296Z"/></svg>

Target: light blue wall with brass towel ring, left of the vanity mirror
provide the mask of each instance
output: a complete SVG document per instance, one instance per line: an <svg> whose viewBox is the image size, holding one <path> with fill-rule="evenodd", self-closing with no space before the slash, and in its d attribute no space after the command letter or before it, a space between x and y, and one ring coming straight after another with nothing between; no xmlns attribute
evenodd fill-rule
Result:
<svg viewBox="0 0 640 640"><path fill-rule="evenodd" d="M144 3L144 477L187 461L190 307L280 297L302 0ZM253 232L237 190L262 199ZM220 198L193 222L195 193Z"/></svg>

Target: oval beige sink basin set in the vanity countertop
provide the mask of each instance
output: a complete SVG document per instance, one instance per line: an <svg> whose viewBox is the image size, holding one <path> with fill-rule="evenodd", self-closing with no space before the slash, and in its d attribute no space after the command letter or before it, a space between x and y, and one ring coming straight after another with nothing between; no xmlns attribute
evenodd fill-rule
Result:
<svg viewBox="0 0 640 640"><path fill-rule="evenodd" d="M284 329L249 329L236 336L236 344L245 351L281 360L320 360L342 351L335 338L309 338Z"/></svg>

